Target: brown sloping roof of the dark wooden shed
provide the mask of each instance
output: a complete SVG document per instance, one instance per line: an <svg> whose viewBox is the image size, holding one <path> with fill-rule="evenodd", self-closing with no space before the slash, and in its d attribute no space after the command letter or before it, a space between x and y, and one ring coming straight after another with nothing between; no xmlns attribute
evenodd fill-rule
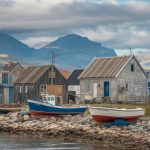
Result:
<svg viewBox="0 0 150 150"><path fill-rule="evenodd" d="M15 83L36 83L51 65L28 67Z"/></svg>

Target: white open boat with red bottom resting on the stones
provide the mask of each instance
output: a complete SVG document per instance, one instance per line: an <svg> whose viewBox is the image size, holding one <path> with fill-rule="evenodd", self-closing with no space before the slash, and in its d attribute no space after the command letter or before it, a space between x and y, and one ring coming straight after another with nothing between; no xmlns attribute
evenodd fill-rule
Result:
<svg viewBox="0 0 150 150"><path fill-rule="evenodd" d="M96 122L109 123L116 119L123 119L127 122L136 122L139 117L144 116L145 110L137 109L117 109L107 107L91 107L89 111Z"/></svg>

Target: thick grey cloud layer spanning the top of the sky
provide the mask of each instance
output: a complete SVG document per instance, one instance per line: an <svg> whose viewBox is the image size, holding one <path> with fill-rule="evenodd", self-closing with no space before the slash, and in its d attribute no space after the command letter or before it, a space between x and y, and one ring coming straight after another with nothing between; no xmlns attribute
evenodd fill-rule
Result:
<svg viewBox="0 0 150 150"><path fill-rule="evenodd" d="M72 29L150 19L150 4L113 5L73 0L54 2L13 0L10 2L14 2L13 5L0 5L1 31Z"/></svg>

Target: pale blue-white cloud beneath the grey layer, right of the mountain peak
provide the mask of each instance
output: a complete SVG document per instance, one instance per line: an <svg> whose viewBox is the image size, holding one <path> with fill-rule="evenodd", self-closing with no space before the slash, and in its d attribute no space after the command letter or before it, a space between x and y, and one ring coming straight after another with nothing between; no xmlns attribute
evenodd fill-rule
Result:
<svg viewBox="0 0 150 150"><path fill-rule="evenodd" d="M77 31L78 34L87 36L95 41L101 41L114 49L128 49L128 48L150 48L150 21L143 23L124 23L100 25L97 28L85 28Z"/></svg>

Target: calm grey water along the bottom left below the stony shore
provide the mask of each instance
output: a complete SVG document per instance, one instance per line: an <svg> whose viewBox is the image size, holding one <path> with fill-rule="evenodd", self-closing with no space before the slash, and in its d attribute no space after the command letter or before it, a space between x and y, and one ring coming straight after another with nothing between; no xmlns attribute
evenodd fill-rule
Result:
<svg viewBox="0 0 150 150"><path fill-rule="evenodd" d="M77 144L63 139L34 138L0 133L0 150L106 150L101 144Z"/></svg>

